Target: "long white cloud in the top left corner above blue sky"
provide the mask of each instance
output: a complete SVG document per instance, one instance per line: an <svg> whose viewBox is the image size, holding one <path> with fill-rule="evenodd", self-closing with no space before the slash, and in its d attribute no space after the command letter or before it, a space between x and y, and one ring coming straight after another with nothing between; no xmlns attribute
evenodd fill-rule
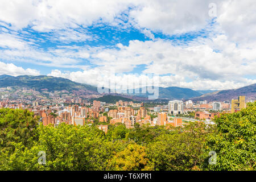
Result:
<svg viewBox="0 0 256 182"><path fill-rule="evenodd" d="M66 27L89 26L102 19L113 22L116 14L127 9L129 2L120 1L1 1L0 19L15 28L31 25L36 31L61 30Z"/></svg>

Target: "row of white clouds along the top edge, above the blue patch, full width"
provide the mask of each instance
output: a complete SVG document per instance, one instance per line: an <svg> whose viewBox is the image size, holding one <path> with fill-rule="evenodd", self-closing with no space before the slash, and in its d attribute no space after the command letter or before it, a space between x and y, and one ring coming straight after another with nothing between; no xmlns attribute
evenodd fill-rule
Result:
<svg viewBox="0 0 256 182"><path fill-rule="evenodd" d="M0 20L11 23L12 28L31 26L39 32L68 30L103 22L113 26L131 24L142 28L147 36L152 36L150 31L173 35L205 28L213 18L209 16L210 3L210 0L11 0L1 1ZM255 39L254 0L217 0L214 3L217 7L216 21L230 39Z"/></svg>

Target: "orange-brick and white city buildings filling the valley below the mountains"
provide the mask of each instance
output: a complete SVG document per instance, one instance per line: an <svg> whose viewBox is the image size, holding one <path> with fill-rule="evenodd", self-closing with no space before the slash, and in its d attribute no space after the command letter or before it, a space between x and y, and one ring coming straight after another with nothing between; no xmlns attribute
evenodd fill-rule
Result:
<svg viewBox="0 0 256 182"><path fill-rule="evenodd" d="M19 92L31 92L38 94L35 90L19 90ZM47 92L47 91L45 91ZM156 105L155 107L145 107L143 102L133 103L128 101L118 101L115 104L105 102L89 102L81 97L61 92L47 93L47 98L36 98L36 95L10 99L9 95L4 95L0 101L0 107L14 109L28 109L38 116L43 125L60 123L69 125L91 125L96 123L98 129L108 132L108 125L123 123L127 129L133 128L135 123L149 126L183 126L185 123L211 121L221 112L234 113L246 107L245 96L239 96L237 100L231 102L207 102L198 101L169 101L167 105ZM64 106L65 105L65 106ZM191 117L189 113L194 113ZM188 117L188 115L190 117Z"/></svg>

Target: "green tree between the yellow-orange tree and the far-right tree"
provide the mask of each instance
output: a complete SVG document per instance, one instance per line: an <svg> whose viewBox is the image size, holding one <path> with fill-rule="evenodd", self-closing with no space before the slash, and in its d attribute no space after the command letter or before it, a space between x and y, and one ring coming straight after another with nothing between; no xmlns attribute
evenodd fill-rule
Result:
<svg viewBox="0 0 256 182"><path fill-rule="evenodd" d="M172 134L162 134L147 145L148 166L157 171L199 169L203 142L212 127L191 122L173 130Z"/></svg>

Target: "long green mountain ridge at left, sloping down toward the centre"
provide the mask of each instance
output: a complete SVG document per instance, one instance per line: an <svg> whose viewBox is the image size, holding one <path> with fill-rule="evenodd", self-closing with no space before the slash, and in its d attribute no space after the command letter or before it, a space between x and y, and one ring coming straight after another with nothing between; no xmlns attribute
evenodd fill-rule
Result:
<svg viewBox="0 0 256 182"><path fill-rule="evenodd" d="M36 91L41 92L47 90L48 92L68 90L85 90L89 93L97 93L97 87L87 84L80 84L73 82L66 78L53 77L53 76L9 76L9 75L0 75L0 88L13 86L13 87L26 87L30 89L35 89Z"/></svg>

